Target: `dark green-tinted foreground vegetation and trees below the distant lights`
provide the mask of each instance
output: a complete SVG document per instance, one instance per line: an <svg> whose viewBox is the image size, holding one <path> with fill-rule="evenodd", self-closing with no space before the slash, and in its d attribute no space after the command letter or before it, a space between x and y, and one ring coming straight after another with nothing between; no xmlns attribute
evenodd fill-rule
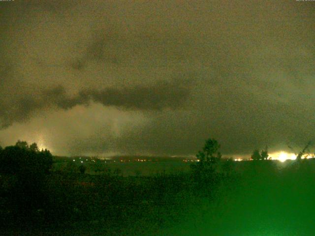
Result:
<svg viewBox="0 0 315 236"><path fill-rule="evenodd" d="M315 160L222 160L207 140L189 173L53 172L35 144L0 150L0 235L311 236ZM266 155L266 154L265 154Z"/></svg>

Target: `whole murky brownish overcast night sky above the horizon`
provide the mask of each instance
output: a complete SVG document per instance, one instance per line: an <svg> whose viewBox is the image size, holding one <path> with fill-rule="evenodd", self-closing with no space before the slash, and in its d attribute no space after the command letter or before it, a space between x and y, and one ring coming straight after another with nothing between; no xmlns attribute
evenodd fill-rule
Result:
<svg viewBox="0 0 315 236"><path fill-rule="evenodd" d="M0 145L225 155L315 141L315 2L0 2Z"/></svg>

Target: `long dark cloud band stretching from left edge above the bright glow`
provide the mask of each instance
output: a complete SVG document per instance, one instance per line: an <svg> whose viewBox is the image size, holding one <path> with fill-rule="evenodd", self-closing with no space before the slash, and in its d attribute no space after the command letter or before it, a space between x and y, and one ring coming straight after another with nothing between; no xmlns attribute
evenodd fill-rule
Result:
<svg viewBox="0 0 315 236"><path fill-rule="evenodd" d="M12 125L14 121L29 119L38 110L56 107L71 109L77 105L89 106L91 101L104 106L114 106L127 110L163 110L179 108L189 96L188 83L175 84L161 82L157 85L144 87L102 90L81 90L69 96L62 86L47 89L37 97L23 96L13 100L11 104L3 104L5 109L0 112L2 127Z"/></svg>

